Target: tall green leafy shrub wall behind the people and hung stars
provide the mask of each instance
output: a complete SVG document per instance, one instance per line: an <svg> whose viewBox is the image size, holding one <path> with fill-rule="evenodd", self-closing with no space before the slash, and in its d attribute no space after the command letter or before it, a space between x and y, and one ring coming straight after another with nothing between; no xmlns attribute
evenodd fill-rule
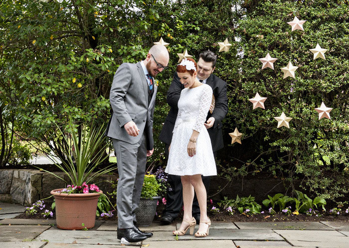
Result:
<svg viewBox="0 0 349 248"><path fill-rule="evenodd" d="M163 37L171 58L157 77L151 158L161 162L164 146L157 137L169 110L166 91L176 53L187 49L197 57L210 49L219 55L215 74L228 83L222 175L264 171L291 183L300 179L304 188L336 199L349 190L348 5L346 0L4 0L0 106L12 111L27 138L55 133L55 125L66 126L68 117L76 125L106 122L118 66L140 61ZM307 20L305 31L291 32L287 22L294 16ZM232 46L218 53L217 42L225 38ZM313 60L309 49L317 43L328 49L326 60ZM267 52L278 58L274 70L261 70L258 58ZM299 66L295 79L282 78L289 61ZM252 110L248 99L256 92L268 97L265 110ZM322 101L333 108L331 120L318 120L314 108ZM282 111L293 118L290 129L276 128L274 116ZM242 145L228 145L235 127L243 133ZM47 145L56 147L49 140Z"/></svg>

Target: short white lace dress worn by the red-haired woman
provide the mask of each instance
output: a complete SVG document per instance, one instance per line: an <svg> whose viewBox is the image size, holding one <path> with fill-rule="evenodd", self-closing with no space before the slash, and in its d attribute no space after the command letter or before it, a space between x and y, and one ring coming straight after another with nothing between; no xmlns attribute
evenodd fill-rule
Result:
<svg viewBox="0 0 349 248"><path fill-rule="evenodd" d="M203 125L211 101L212 88L206 84L181 91L166 173L178 176L217 175L211 140ZM189 157L187 145L193 130L199 132L199 135L196 140L196 154Z"/></svg>

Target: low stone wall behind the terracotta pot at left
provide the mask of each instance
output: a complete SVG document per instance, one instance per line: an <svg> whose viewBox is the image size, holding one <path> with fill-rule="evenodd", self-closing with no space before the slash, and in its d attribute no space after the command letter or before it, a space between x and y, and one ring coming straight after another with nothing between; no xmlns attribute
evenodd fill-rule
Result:
<svg viewBox="0 0 349 248"><path fill-rule="evenodd" d="M59 177L69 182L63 172L55 172ZM112 175L103 175L97 179L97 185L103 192L112 192L108 181L116 181ZM39 170L0 170L0 202L16 203L30 206L38 200L50 197L50 191L65 187L61 179ZM45 202L53 202L53 197Z"/></svg>

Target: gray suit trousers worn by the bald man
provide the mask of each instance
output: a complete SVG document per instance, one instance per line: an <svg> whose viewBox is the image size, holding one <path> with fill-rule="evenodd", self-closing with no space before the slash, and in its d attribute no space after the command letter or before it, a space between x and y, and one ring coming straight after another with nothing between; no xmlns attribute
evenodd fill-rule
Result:
<svg viewBox="0 0 349 248"><path fill-rule="evenodd" d="M141 135L141 134L140 134ZM147 163L146 136L136 144L112 139L116 152L119 181L116 195L118 228L132 228L141 198Z"/></svg>

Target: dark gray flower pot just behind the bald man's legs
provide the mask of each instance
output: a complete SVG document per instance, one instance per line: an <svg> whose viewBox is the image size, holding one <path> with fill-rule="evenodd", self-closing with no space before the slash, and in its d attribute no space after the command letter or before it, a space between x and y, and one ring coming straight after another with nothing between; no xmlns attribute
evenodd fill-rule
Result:
<svg viewBox="0 0 349 248"><path fill-rule="evenodd" d="M160 198L160 196L153 197L153 199L141 198L136 212L137 226L149 227L152 224Z"/></svg>

